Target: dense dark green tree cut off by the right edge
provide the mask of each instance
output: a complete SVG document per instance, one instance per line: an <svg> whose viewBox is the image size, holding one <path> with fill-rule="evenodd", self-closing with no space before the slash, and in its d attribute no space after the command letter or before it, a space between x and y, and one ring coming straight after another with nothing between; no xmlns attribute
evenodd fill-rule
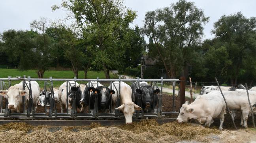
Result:
<svg viewBox="0 0 256 143"><path fill-rule="evenodd" d="M230 76L230 83L237 84L241 70L248 68L248 62L256 60L256 17L246 18L241 12L221 16L214 24L213 33L228 53L230 64L224 68Z"/></svg>

